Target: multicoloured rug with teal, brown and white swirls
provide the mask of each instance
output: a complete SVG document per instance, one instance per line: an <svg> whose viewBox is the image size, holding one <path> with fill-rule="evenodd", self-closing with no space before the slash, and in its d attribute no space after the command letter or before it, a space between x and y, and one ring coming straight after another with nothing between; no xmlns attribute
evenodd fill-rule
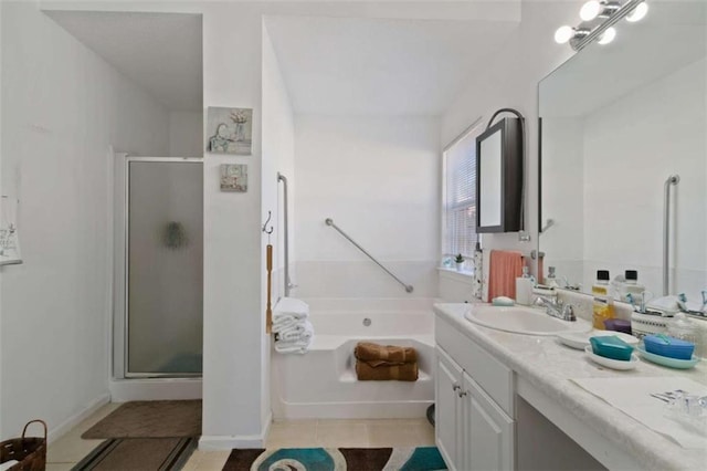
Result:
<svg viewBox="0 0 707 471"><path fill-rule="evenodd" d="M446 470L436 447L279 448L231 451L223 471L435 471Z"/></svg>

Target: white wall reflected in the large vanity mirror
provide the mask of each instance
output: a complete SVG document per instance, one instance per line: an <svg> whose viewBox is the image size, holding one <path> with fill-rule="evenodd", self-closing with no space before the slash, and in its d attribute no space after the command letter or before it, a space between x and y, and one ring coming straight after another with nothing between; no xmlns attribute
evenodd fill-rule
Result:
<svg viewBox="0 0 707 471"><path fill-rule="evenodd" d="M698 216L707 206L706 67L697 61L587 116L585 286L598 269L612 278L633 269L650 291L661 292L663 184L677 174L672 292L699 300L707 282L707 220Z"/></svg>

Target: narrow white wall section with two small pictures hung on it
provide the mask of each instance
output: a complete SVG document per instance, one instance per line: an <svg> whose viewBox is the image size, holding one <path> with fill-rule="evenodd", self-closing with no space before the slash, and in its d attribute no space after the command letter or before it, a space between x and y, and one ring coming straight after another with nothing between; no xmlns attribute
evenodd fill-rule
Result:
<svg viewBox="0 0 707 471"><path fill-rule="evenodd" d="M202 447L262 439L267 342L262 269L262 20L257 6L203 12L204 106L253 108L253 155L204 158L204 370ZM224 60L224 57L229 57ZM232 60L231 60L232 57ZM221 164L247 164L245 193L219 190ZM253 440L253 441L251 441Z"/></svg>

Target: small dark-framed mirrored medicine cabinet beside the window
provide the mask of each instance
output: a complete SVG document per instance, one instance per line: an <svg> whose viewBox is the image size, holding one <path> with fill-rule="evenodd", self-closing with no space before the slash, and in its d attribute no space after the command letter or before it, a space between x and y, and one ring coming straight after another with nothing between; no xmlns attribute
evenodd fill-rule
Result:
<svg viewBox="0 0 707 471"><path fill-rule="evenodd" d="M476 138L476 232L520 229L521 123L504 118Z"/></svg>

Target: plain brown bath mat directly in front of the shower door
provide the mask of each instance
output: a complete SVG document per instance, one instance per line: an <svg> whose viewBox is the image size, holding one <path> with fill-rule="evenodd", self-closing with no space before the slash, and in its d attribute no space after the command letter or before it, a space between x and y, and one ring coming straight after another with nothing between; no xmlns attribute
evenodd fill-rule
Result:
<svg viewBox="0 0 707 471"><path fill-rule="evenodd" d="M81 438L175 438L201 435L201 400L125 402Z"/></svg>

